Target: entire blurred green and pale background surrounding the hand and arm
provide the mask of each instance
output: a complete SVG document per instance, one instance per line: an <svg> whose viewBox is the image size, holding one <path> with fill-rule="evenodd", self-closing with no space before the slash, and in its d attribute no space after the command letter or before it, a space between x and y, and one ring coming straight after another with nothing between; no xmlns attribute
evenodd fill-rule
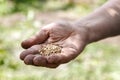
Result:
<svg viewBox="0 0 120 80"><path fill-rule="evenodd" d="M107 0L0 0L0 80L120 80L120 37L90 44L56 69L25 65L22 40L56 20L74 21Z"/></svg>

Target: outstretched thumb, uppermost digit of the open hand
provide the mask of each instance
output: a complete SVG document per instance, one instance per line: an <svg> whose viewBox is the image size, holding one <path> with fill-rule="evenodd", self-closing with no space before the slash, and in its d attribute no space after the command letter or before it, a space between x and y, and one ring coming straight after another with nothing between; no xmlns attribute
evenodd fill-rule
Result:
<svg viewBox="0 0 120 80"><path fill-rule="evenodd" d="M21 46L27 49L35 44L40 44L40 43L45 42L47 38L48 38L48 30L41 29L41 31L35 36L33 36L32 38L24 40L21 43Z"/></svg>

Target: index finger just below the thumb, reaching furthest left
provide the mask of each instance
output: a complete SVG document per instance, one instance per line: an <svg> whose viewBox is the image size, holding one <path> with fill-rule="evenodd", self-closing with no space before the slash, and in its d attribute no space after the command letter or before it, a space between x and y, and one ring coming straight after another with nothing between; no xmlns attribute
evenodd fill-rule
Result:
<svg viewBox="0 0 120 80"><path fill-rule="evenodd" d="M39 50L42 48L42 45L34 45L32 46L31 48L23 51L21 54L20 54L20 59L21 60L24 60L24 58L29 55L29 54L38 54L39 53Z"/></svg>

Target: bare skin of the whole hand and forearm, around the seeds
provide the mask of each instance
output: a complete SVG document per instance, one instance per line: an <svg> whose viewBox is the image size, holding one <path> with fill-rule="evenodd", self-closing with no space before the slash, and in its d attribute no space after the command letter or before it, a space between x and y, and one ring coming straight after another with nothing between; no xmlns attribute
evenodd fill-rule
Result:
<svg viewBox="0 0 120 80"><path fill-rule="evenodd" d="M59 21L44 26L39 33L22 42L20 59L27 65L56 68L76 58L92 42L120 35L120 0L110 0L88 16L75 22ZM62 52L41 56L43 44L62 46Z"/></svg>

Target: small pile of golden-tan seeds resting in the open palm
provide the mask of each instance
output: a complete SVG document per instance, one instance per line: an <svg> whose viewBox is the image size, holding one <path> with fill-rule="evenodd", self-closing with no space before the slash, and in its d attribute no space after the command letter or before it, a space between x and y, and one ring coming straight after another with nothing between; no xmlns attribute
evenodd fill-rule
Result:
<svg viewBox="0 0 120 80"><path fill-rule="evenodd" d="M62 47L55 44L43 45L42 49L39 50L40 55L49 56L51 54L61 53Z"/></svg>

